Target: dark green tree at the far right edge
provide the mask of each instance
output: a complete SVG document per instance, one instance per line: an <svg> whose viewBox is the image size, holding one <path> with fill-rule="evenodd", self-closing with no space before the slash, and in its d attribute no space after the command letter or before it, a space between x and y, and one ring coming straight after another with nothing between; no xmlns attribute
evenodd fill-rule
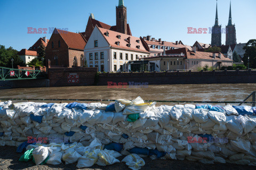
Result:
<svg viewBox="0 0 256 170"><path fill-rule="evenodd" d="M243 50L245 50L243 57L244 65L247 66L249 57L250 68L256 68L256 39L250 39L243 47Z"/></svg>

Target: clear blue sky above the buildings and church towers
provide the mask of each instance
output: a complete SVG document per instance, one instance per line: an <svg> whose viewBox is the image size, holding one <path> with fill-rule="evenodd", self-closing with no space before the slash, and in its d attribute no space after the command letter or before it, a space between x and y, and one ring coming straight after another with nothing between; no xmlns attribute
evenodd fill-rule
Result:
<svg viewBox="0 0 256 170"><path fill-rule="evenodd" d="M218 1L219 24L228 24L230 0ZM50 39L49 27L84 32L90 13L95 19L116 25L118 0L0 0L0 44L20 51L39 37ZM124 0L127 21L135 37L150 35L162 41L211 43L209 27L215 22L215 0ZM237 43L256 39L256 1L231 0ZM28 27L47 28L46 34L28 34ZM188 34L188 27L207 28L207 34ZM222 44L226 35L222 34Z"/></svg>

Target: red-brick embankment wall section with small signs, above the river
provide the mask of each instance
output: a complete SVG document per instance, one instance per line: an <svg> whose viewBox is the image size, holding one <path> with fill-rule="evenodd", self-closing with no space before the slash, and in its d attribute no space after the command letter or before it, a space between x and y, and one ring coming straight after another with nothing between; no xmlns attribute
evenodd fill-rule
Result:
<svg viewBox="0 0 256 170"><path fill-rule="evenodd" d="M97 68L49 68L50 86L89 86L94 84ZM68 76L78 75L79 82L68 83Z"/></svg>

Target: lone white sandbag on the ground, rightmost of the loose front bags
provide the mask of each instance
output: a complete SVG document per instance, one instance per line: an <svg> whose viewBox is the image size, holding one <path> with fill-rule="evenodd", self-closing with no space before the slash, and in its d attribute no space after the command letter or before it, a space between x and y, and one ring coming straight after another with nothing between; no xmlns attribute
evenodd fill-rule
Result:
<svg viewBox="0 0 256 170"><path fill-rule="evenodd" d="M129 166L129 168L133 170L138 170L141 168L141 166L145 165L145 161L135 153L126 156L122 162L124 162L127 166Z"/></svg>

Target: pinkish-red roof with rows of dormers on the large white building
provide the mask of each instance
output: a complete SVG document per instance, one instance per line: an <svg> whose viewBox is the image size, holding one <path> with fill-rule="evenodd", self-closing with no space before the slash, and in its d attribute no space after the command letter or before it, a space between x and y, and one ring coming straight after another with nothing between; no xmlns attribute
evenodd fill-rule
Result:
<svg viewBox="0 0 256 170"><path fill-rule="evenodd" d="M111 47L149 53L146 50L146 48L143 46L141 39L138 37L133 37L127 34L118 33L116 31L111 31L104 28L98 27L98 29L101 31L102 35L105 37L105 39L107 40L107 42L110 44ZM109 33L108 36L106 36L107 31ZM121 36L121 39L117 38L118 35ZM129 38L130 38L130 42L128 41ZM137 42L138 40L139 40L139 43ZM119 45L117 45L117 42L119 42ZM129 43L131 44L131 47L127 45ZM137 48L137 46L140 46L140 49Z"/></svg>

